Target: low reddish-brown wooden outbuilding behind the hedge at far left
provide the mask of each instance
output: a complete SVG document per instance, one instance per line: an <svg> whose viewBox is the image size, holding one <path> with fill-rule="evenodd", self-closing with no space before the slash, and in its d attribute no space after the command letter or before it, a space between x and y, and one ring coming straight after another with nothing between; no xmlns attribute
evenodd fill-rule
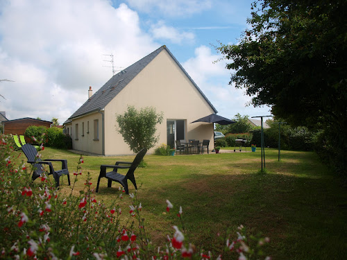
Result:
<svg viewBox="0 0 347 260"><path fill-rule="evenodd" d="M24 135L26 128L28 128L28 126L30 125L44 126L45 128L50 128L52 123L53 122L51 121L32 119L30 117L1 122L1 124L3 125L3 133L5 135ZM26 138L26 141L30 142L31 140Z"/></svg>

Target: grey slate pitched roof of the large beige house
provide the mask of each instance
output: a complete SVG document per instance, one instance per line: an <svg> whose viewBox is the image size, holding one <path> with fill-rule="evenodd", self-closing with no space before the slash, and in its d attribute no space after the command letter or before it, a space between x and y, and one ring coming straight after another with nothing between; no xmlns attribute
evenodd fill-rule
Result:
<svg viewBox="0 0 347 260"><path fill-rule="evenodd" d="M214 112L217 113L217 110L214 108L212 103L208 101L208 98L203 94L203 92L201 92L201 89L199 89L196 83L194 83L194 80L190 78L187 71L183 69L178 60L176 60L174 55L172 55L169 49L167 49L167 46L164 45L110 78L110 80L108 80L103 87L101 87L91 98L89 98L80 108L78 108L78 110L76 110L76 112L74 112L74 114L72 114L69 119L65 121L65 123L69 123L71 119L78 116L83 116L85 114L90 114L91 112L96 112L103 109L106 105L108 105L108 103L110 103L110 101L112 101L113 98L115 98L115 96L117 96L119 92L121 92L122 89L124 89L124 87L126 87L126 85L128 85L128 83L130 83L131 80L133 80L133 78L135 78L135 76L137 76L140 71L142 71L142 69L144 69L144 67L146 67L147 64L149 64L164 49L167 50L167 52L171 55L171 58L175 60L180 69L183 70L189 80L192 81L196 89L198 89L198 92L200 92L203 98L205 98Z"/></svg>

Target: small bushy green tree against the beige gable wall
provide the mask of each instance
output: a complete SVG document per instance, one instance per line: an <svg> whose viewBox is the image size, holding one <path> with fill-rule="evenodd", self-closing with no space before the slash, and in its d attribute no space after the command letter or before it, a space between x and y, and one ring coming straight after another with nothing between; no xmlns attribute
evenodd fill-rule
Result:
<svg viewBox="0 0 347 260"><path fill-rule="evenodd" d="M136 110L134 106L128 106L124 114L116 114L116 119L117 131L134 153L142 148L152 148L158 143L159 135L155 135L155 126L162 123L163 116L162 112L157 114L154 107Z"/></svg>

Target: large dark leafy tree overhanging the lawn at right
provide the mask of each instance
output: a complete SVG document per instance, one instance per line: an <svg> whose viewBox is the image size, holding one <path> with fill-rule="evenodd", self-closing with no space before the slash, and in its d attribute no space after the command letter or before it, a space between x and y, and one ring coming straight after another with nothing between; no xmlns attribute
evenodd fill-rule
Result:
<svg viewBox="0 0 347 260"><path fill-rule="evenodd" d="M230 84L245 88L254 106L291 125L323 129L321 148L335 169L346 173L347 1L264 0L239 44L217 47L232 73Z"/></svg>

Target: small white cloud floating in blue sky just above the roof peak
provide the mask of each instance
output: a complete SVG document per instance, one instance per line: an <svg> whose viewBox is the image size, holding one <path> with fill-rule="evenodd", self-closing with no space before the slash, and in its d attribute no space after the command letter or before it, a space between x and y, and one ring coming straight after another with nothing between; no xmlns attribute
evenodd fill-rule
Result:
<svg viewBox="0 0 347 260"><path fill-rule="evenodd" d="M178 31L176 28L167 26L164 21L158 21L151 26L151 33L155 39L169 40L174 44L182 44L194 41L194 33Z"/></svg>

